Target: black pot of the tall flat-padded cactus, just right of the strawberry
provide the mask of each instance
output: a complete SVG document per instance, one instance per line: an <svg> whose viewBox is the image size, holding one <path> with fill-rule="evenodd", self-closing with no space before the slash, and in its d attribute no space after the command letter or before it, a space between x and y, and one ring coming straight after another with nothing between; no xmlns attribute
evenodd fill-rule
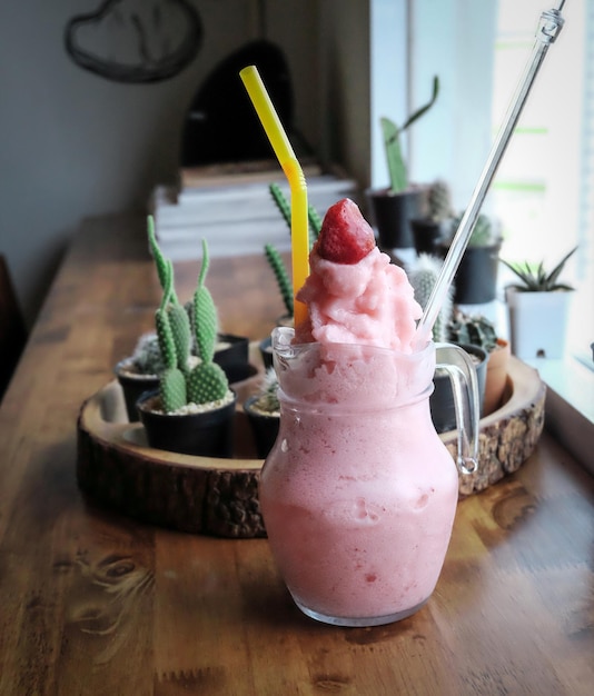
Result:
<svg viewBox="0 0 594 696"><path fill-rule="evenodd" d="M379 247L382 249L414 247L410 220L426 217L426 189L412 188L400 193L390 193L389 189L368 189L366 193Z"/></svg>

